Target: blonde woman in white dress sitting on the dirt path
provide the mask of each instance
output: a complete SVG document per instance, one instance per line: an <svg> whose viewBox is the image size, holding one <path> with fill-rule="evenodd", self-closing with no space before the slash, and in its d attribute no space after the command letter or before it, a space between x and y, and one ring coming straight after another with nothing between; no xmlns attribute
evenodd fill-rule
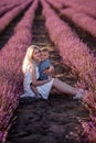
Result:
<svg viewBox="0 0 96 143"><path fill-rule="evenodd" d="M41 57L41 50L36 45L31 45L25 54L22 70L24 74L24 94L21 97L35 97L34 91L31 88L31 85L36 87L36 90L40 97L43 99L47 99L51 88L54 87L58 91L63 94L68 94L74 97L74 99L82 99L84 96L83 89L76 89L64 81L61 81L57 78L52 78L49 76L47 79L38 80L39 79L39 63Z"/></svg>

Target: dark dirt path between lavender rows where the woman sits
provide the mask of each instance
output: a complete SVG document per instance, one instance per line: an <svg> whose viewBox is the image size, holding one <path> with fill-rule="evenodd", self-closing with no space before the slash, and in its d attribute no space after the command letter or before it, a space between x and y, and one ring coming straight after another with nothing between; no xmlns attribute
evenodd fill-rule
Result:
<svg viewBox="0 0 96 143"><path fill-rule="evenodd" d="M35 16L33 44L51 47L51 59L56 77L74 85L76 79L62 66L61 57L50 41L44 28L44 19ZM10 143L83 143L79 121L87 119L87 111L79 101L52 90L49 100L35 101L32 98L20 100L10 129Z"/></svg>

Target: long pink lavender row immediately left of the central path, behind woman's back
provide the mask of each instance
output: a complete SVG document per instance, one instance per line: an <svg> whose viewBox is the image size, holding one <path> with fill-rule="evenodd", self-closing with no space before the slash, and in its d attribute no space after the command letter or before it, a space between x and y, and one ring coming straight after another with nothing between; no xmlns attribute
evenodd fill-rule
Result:
<svg viewBox="0 0 96 143"><path fill-rule="evenodd" d="M32 42L32 25L38 0L33 1L22 20L14 28L14 34L0 51L0 142L4 143L10 119L22 94L22 59Z"/></svg>

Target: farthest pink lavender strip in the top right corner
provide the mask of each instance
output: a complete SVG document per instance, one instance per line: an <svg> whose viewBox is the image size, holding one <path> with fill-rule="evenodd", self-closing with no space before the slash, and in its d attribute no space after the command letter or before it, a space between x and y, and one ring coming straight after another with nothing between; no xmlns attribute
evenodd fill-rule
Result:
<svg viewBox="0 0 96 143"><path fill-rule="evenodd" d="M96 1L95 0L46 0L56 8L65 9L71 8L74 9L76 12L86 13L93 18L96 18ZM57 6L58 3L58 6Z"/></svg>

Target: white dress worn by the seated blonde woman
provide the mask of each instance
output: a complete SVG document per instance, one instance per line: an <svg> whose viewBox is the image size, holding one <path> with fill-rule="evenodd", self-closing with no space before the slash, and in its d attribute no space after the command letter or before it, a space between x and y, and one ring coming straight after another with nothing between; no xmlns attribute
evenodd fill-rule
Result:
<svg viewBox="0 0 96 143"><path fill-rule="evenodd" d="M32 65L28 67L24 74L24 81L23 81L24 94L21 97L35 97L35 94L32 91L31 86L30 86L30 84L32 82L31 67ZM39 79L40 77L39 67L35 66L35 69L36 69L36 79ZM43 99L49 98L49 95L53 85L53 80L54 78L52 78L51 81L36 87L39 94L42 96Z"/></svg>

